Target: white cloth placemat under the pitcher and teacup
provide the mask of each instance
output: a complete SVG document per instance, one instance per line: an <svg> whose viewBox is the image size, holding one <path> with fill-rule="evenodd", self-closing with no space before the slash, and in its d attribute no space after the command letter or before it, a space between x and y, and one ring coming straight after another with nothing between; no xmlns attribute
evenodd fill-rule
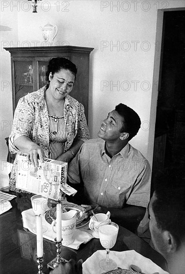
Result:
<svg viewBox="0 0 185 274"><path fill-rule="evenodd" d="M27 228L30 232L32 232L33 234L36 234L36 217L34 215L32 208L22 211L22 221L23 221L24 228ZM51 225L45 220L45 215L42 216L42 226L47 227L47 231L43 233L43 238L46 238L54 242L54 239L56 238L56 233L52 231ZM77 228L74 232L73 237L74 237L74 242L67 246L73 249L79 249L79 246L82 243L87 243L92 238L94 238L92 236L92 231L84 227ZM65 245L65 242L62 245Z"/></svg>

